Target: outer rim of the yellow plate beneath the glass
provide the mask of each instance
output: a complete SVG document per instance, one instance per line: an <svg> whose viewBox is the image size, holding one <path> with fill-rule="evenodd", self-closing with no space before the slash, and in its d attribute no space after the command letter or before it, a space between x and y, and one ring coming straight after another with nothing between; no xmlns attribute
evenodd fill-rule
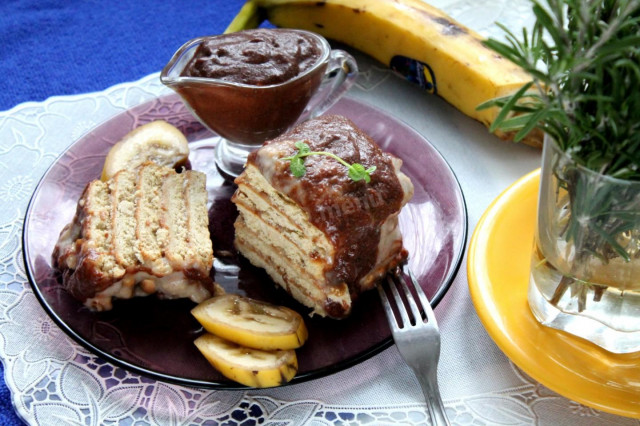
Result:
<svg viewBox="0 0 640 426"><path fill-rule="evenodd" d="M625 408L624 404L620 404L618 406L612 406L612 404L604 404L598 401L594 401L591 398L587 398L580 393L576 394L575 391L571 391L570 386L561 386L557 382L554 382L552 379L549 379L547 376L543 376L539 373L540 367L532 366L530 362L521 359L520 355L517 353L516 344L511 342L506 333L503 333L501 327L494 320L494 314L492 314L490 309L487 309L487 303L485 301L485 295L482 288L487 287L490 282L483 283L484 276L488 276L488 273L483 273L478 271L480 268L479 258L483 258L483 254L486 251L486 243L491 239L491 236L488 235L486 228L489 228L490 225L494 222L496 216L499 216L503 213L504 209L510 205L510 200L514 196L514 194L518 194L519 192L523 192L528 189L529 185L536 185L539 181L541 169L537 168L524 176L520 177L514 183L512 183L509 187L507 187L500 195L498 195L492 202L489 204L485 212L480 217L478 224L471 236L471 240L469 242L469 247L467 251L467 277L468 277L468 285L469 285L469 293L471 296L471 300L473 302L475 311L484 327L487 331L491 339L498 346L498 348L509 358L511 362L517 365L522 371L524 371L527 375L529 375L533 380L539 382L543 386L551 389L552 391L568 398L578 403L584 404L586 406L601 410L603 412L607 412L610 414L615 414L624 417L636 418L640 419L640 406L637 407L628 407ZM537 189L536 189L536 199L537 199ZM535 225L534 225L535 226ZM533 237L533 236L532 236ZM484 263L484 262L483 262ZM487 277L488 279L488 277ZM528 285L528 282L526 283ZM524 283L522 284L525 285ZM526 294L526 292L525 292ZM498 303L494 304L495 306L499 306ZM528 306L528 305L527 305ZM533 315L533 314L531 314ZM543 326L541 326L543 327ZM568 333L563 333L558 330L549 329L550 332L561 334L563 338L575 340L576 342L583 342L582 339L579 339L575 336L572 336ZM584 342L584 344L591 345L588 342ZM595 347L595 345L594 345ZM606 352L602 350L603 352ZM535 363L534 363L535 364ZM563 366L566 364L562 364ZM573 373L573 376L578 378L579 375ZM585 380L585 379L581 379ZM629 409L633 408L633 409Z"/></svg>

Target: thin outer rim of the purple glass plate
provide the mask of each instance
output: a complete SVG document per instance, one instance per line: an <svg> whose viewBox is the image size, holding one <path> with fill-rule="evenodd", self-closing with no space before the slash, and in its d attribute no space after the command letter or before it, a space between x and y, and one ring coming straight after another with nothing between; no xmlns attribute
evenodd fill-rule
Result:
<svg viewBox="0 0 640 426"><path fill-rule="evenodd" d="M228 382L213 382L213 381L206 381L206 380L197 380L197 379L190 379L190 378L185 378L185 377L177 377L175 375L170 375L170 374L165 374L156 370L152 370L152 369L148 369L139 365L135 365L132 364L130 362L124 361L120 358L118 358L117 356L114 356L110 353L108 353L107 351L104 351L100 348L98 348L97 346L95 346L92 342L84 339L82 336L80 336L77 332L75 332L73 330L72 327L70 327L64 320L62 320L62 318L59 317L59 315L55 312L55 310L47 303L40 287L37 285L35 277L33 276L33 271L31 270L31 264L28 261L28 253L27 253L27 246L26 246L26 241L27 241L27 223L29 222L29 219L32 215L32 208L33 208L33 203L34 203L34 199L36 197L36 195L39 193L41 186L43 184L43 181L45 180L45 178L49 175L49 173L51 172L51 170L56 166L56 164L58 163L58 161L60 160L60 158L64 157L75 145L78 141L84 139L85 137L87 137L90 133L94 132L96 129L100 128L101 126L103 126L104 124L106 124L107 122L114 120L116 117L120 116L121 114L127 114L129 113L132 109L134 108L138 108L138 107L142 107L143 105L146 104L151 104L154 102L158 102L160 99L167 99L167 98L176 98L178 99L178 95L174 94L174 93L169 93L169 94L165 94L165 95L160 95L160 96L156 96L153 97L151 99L147 99L144 102L141 102L139 104L127 107L126 109L124 109L123 111L117 112L115 114L112 114L111 116L105 118L103 121L101 121L100 123L96 124L95 126L93 126L91 129L89 129L88 131L86 131L84 134L82 134L81 136L77 137L75 140L73 140L64 150L62 150L60 152L60 154L58 154L58 157L51 163L51 165L49 165L49 167L47 167L46 171L42 174L42 176L40 177L40 179L38 180L38 184L35 186L35 189L33 190L30 198L29 198L29 203L27 205L27 208L25 210L25 216L24 216L24 220L22 222L23 227L22 227L22 236L21 236L21 242L22 242L22 258L23 258L23 262L25 265L25 272L26 272L26 276L27 276L27 280L29 281L29 286L31 288L31 290L33 291L34 295L36 296L36 299L38 300L40 306L42 306L42 308L44 309L44 311L46 312L46 314L53 319L53 321L56 323L56 325L58 327L60 327L60 329L67 334L67 336L69 336L71 339L73 339L78 345L80 345L81 347L87 349L89 352L91 352L93 355L98 356L103 358L104 360L118 366L121 368L124 368L127 371L130 372L134 372L136 374L140 374L141 376L144 377L148 377L154 380L159 380L165 383L172 383L172 384L176 384L176 385L181 385L181 386L190 386L190 387L194 387L194 388L201 388L201 389L216 389L216 390L248 390L248 389L256 389L250 386L245 386L245 385L241 385L239 383L233 382L231 380L229 380ZM365 108L368 108L370 110L374 110L376 113L381 114L383 116L388 117L390 120L396 121L398 123L400 123L402 126L408 128L412 133L414 133L417 137L419 137L420 139L422 139L428 146L430 146L434 152L438 155L438 157L440 158L440 160L444 163L444 165L446 166L446 168L449 170L449 172L451 173L451 176L453 178L452 183L454 184L454 187L458 189L458 194L459 194L459 198L460 198L460 207L461 207L461 216L462 216L462 223L461 223L461 239L460 239L460 250L458 253L458 256L456 259L454 259L454 262L452 263L452 267L449 269L448 274L446 275L446 277L444 278L444 283L439 286L439 288L436 290L434 296L431 298L431 306L432 308L436 308L436 306L438 306L438 304L442 301L442 299L444 298L445 294L449 291L451 285L453 284L453 281L455 280L458 271L460 270L460 267L462 266L462 260L464 258L465 252L468 250L467 248L467 239L468 239L468 235L469 235L469 214L468 214L468 208L467 208L467 204L466 204L466 198L464 196L464 192L462 191L462 186L460 185L460 181L455 173L455 171L453 170L453 168L451 167L451 165L449 164L449 162L446 160L446 158L442 155L442 153L440 152L440 150L438 150L438 148L433 145L429 139L427 139L424 135L422 135L420 132L418 132L413 126L409 125L408 123L406 123L404 120L398 118L397 116L395 116L393 113L390 113L388 111L385 111L375 105L370 104L369 102L366 101L362 101L359 99L355 99L353 97L351 97L350 95L345 95L343 98L341 98L340 100L338 100L339 102L354 102L356 104L361 104L363 105ZM194 118L195 120L195 118ZM316 379L320 379L322 377L326 377L335 373L338 373L340 371L346 370L348 368L351 368L357 364L360 364L370 358L372 358L373 356L381 353L382 351L384 351L385 349L389 348L390 346L393 345L393 338L390 336L384 340L382 340L380 343L371 346L370 348L367 348L364 351L359 352L358 354L345 359L345 360L341 360L339 362L336 362L334 364L331 364L329 366L323 367L323 368L319 368L316 370L312 370L312 371L308 371L308 372L304 372L304 373L300 373L300 374L296 374L293 379L291 379L289 382L280 385L279 387L283 387L283 386L291 386L291 385L295 385L295 384L299 384L299 383L304 383L310 380L316 380Z"/></svg>

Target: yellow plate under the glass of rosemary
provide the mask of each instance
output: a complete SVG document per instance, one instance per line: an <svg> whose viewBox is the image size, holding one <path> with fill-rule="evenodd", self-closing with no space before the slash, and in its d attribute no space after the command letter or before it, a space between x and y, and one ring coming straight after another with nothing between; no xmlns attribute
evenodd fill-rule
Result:
<svg viewBox="0 0 640 426"><path fill-rule="evenodd" d="M480 320L500 349L555 392L590 407L640 418L640 353L615 355L540 325L527 303L540 171L509 187L471 238L467 273Z"/></svg>

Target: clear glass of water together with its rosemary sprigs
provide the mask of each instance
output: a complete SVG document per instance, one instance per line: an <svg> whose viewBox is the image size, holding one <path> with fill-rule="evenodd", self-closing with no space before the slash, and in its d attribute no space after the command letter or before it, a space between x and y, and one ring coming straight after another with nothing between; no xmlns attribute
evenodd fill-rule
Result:
<svg viewBox="0 0 640 426"><path fill-rule="evenodd" d="M640 0L533 2L486 45L529 72L494 128L545 143L529 306L615 353L640 351ZM491 129L494 130L494 129Z"/></svg>

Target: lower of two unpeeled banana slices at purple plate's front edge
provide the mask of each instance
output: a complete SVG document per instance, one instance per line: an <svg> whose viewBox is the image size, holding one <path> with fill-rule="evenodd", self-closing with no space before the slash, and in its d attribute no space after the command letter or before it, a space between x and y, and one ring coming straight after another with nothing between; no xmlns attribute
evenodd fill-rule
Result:
<svg viewBox="0 0 640 426"><path fill-rule="evenodd" d="M220 373L245 386L280 386L298 371L294 350L265 352L239 346L213 334L203 334L194 343Z"/></svg>

